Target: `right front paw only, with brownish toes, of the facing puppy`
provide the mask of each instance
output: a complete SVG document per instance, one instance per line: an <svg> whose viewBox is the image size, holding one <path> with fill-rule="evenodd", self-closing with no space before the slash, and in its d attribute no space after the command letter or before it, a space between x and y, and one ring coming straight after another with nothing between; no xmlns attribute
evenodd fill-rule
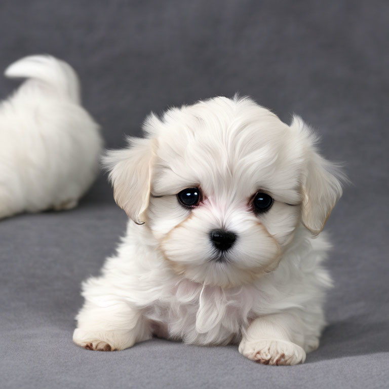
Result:
<svg viewBox="0 0 389 389"><path fill-rule="evenodd" d="M239 352L246 358L263 365L297 365L304 363L305 351L302 347L287 340L242 339Z"/></svg>

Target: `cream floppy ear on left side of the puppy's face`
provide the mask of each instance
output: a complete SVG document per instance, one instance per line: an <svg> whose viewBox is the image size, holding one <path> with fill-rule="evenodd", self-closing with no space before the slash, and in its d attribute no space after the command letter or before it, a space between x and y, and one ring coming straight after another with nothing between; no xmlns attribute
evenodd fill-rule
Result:
<svg viewBox="0 0 389 389"><path fill-rule="evenodd" d="M116 204L137 224L148 207L155 140L128 138L123 150L108 150L103 165L109 171Z"/></svg>

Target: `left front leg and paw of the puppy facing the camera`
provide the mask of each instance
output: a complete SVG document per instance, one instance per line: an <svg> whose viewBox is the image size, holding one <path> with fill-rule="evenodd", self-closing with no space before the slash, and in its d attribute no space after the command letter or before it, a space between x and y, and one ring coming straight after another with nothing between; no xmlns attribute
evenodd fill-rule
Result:
<svg viewBox="0 0 389 389"><path fill-rule="evenodd" d="M87 301L77 315L73 341L85 348L99 351L123 350L151 338L149 324L138 309L121 298L102 290L100 296L86 289Z"/></svg>

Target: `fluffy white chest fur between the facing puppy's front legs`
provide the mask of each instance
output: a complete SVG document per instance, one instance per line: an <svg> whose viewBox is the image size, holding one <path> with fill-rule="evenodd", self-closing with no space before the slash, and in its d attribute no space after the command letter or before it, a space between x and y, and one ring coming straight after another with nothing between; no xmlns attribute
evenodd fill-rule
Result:
<svg viewBox="0 0 389 389"><path fill-rule="evenodd" d="M183 282L145 309L160 337L195 344L228 344L239 341L250 321L250 296L218 287Z"/></svg>

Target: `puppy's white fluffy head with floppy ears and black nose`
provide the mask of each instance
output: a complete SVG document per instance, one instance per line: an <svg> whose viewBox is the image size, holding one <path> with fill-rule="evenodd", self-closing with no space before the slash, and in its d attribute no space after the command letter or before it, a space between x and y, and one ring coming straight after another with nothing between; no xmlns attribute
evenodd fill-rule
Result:
<svg viewBox="0 0 389 389"><path fill-rule="evenodd" d="M150 115L144 131L107 154L115 201L192 281L231 287L274 270L299 222L318 235L341 195L301 119L287 126L248 98Z"/></svg>

